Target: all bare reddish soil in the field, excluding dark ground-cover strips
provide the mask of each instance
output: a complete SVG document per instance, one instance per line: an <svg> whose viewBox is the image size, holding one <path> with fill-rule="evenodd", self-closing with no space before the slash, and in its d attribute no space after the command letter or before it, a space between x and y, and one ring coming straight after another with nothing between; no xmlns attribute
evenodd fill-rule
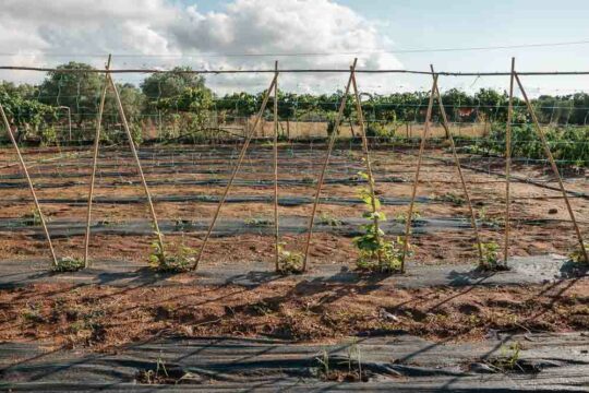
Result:
<svg viewBox="0 0 589 393"><path fill-rule="evenodd" d="M252 167L239 179L272 180L271 151L255 146L264 160L249 158L248 164L260 164L256 171ZM300 148L300 147L299 147ZM204 148L206 152L206 148ZM169 152L169 150L168 150ZM300 150L297 153L301 153ZM280 179L314 179L321 168L324 151L306 150L306 155L288 158L280 163ZM345 153L345 152L344 152ZM410 154L409 154L410 153ZM411 192L417 158L414 150L402 154L394 152L373 152L376 170L376 188L381 196L408 199ZM60 174L89 172L88 155L69 156L43 165L33 162L51 158L58 153L32 150L25 154L32 163L31 174L41 175L36 183L61 183L75 181L68 187L39 188L38 196L87 198L88 176L61 178ZM340 171L327 178L349 178L361 170L360 152L334 157L333 167ZM462 195L453 166L441 164L431 157L450 158L442 150L428 151L430 158L424 160L418 195L448 196ZM235 158L235 155L233 155ZM465 163L482 169L488 166L479 162ZM474 157L476 158L476 157ZM199 163L201 168L229 169L228 158L200 157L191 155L159 156L144 158L148 180L180 179L226 179L228 174L189 174L193 166L178 166L180 162ZM14 155L10 150L0 151L0 174L17 174ZM161 164L175 163L176 166ZM71 166L59 166L59 165ZM136 183L133 163L122 157L120 152L109 151L108 159L100 164L115 165L103 168L98 174L97 196L141 196L143 190ZM154 164L148 166L148 164ZM157 166L159 164L160 166ZM80 166L77 166L80 165ZM163 169L175 169L165 174ZM308 170L308 171L303 171ZM501 170L497 165L491 169ZM108 171L120 176L108 176ZM260 174L264 171L264 174ZM473 204L481 219L498 222L505 210L504 181L493 175L465 170ZM515 166L514 176L544 181L556 186L545 166ZM399 177L406 182L378 182L384 177ZM125 184L125 180L135 181ZM19 180L2 180L5 182ZM117 182L116 188L106 184ZM580 192L588 191L587 180L578 178L566 181L567 188ZM357 198L360 186L326 184L323 195ZM163 184L152 187L154 195L219 195L223 186ZM272 195L272 187L235 187L232 195ZM280 195L312 196L313 184L280 186ZM548 190L534 184L513 182L512 206L512 255L534 255L556 252L567 254L577 240L568 222L568 215L558 191ZM26 187L0 189L0 218L21 218L32 209ZM572 203L581 231L589 233L589 201L572 198ZM280 206L280 215L308 216L311 204L286 207ZM156 203L157 215L166 219L209 221L216 209L214 203L182 202ZM251 217L272 218L269 203L227 204L221 218L248 219ZM467 217L466 204L456 205L449 201L418 204L422 217ZM50 219L74 219L83 223L85 205L47 204L43 205ZM318 207L320 214L336 218L360 217L363 205L329 205ZM394 219L407 210L405 205L383 206L386 215ZM484 217L482 213L484 212ZM133 218L148 218L145 204L96 204L94 218L111 223L124 223ZM529 219L550 221L532 225ZM483 241L502 242L503 229L485 227L481 230ZM197 248L202 233L176 234L166 241L185 243ZM587 236L586 236L587 237ZM284 236L288 249L301 250L304 235ZM422 264L476 263L471 230L445 230L414 236L412 242L417 252L412 262ZM95 259L122 259L139 265L146 265L149 254L148 236L105 236L93 235L91 255ZM81 255L83 237L56 239L59 255ZM201 263L202 269L219 263L240 263L242 261L273 262L273 238L271 236L240 235L213 238ZM0 254L4 260L29 260L48 258L43 238L32 233L5 230L0 233ZM352 266L357 251L351 238L335 234L315 234L311 248L311 263L337 263ZM179 276L181 283L181 276ZM335 284L263 284L256 288L239 286L145 286L139 288L116 288L109 286L72 287L69 284L35 284L20 289L0 290L0 340L39 341L48 347L89 346L96 349L115 349L127 343L147 340L163 334L201 335L243 335L289 338L296 341L330 341L354 334L380 334L398 330L436 341L476 341L492 330L504 331L551 331L565 332L589 329L589 278L568 281L556 285L526 287L466 287L466 288L422 288L384 289L377 286L335 285Z"/></svg>

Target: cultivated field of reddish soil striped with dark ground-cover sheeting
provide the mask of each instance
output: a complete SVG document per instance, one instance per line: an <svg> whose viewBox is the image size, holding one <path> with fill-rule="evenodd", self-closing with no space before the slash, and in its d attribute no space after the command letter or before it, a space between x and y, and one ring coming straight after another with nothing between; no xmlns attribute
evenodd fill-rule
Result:
<svg viewBox="0 0 589 393"><path fill-rule="evenodd" d="M240 147L141 147L168 249L199 249ZM416 147L371 146L389 239L404 233ZM279 145L287 250L304 246L325 154L322 142ZM89 148L27 148L24 156L58 255L83 257ZM11 355L0 358L0 379L13 391L73 389L81 376L103 388L139 382L231 390L254 380L268 391L303 384L361 390L361 381L374 390L480 383L582 390L589 382L589 279L582 265L568 261L578 242L550 167L514 162L512 269L481 272L452 155L428 148L414 253L405 275L384 275L356 270L353 238L366 210L359 198L361 158L353 141L333 153L304 274L274 273L273 151L262 142L245 157L199 270L161 274L148 269L155 236L132 156L105 147L92 266L56 274L15 154L2 148L0 352ZM504 160L460 158L483 242L503 245ZM587 177L563 169L581 233L589 234ZM56 368L56 361L69 366Z"/></svg>

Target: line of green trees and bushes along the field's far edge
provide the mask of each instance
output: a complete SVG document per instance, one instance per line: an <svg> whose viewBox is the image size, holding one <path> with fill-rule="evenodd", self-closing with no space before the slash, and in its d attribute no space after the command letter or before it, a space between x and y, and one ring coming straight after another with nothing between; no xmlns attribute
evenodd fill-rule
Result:
<svg viewBox="0 0 589 393"><path fill-rule="evenodd" d="M76 70L76 72L67 72ZM20 140L38 138L50 142L57 139L55 124L63 124L65 112L71 114L76 139L92 140L100 93L105 80L101 73L91 72L85 63L69 62L47 73L39 84L0 83L0 104L9 115ZM146 127L156 129L163 139L183 134L207 135L215 132L211 124L247 119L260 110L263 93L214 94L203 76L188 73L190 68L176 68L172 72L155 73L139 86L118 84L125 115L137 139ZM278 93L278 116L285 121L327 121L333 124L344 92L333 94ZM354 121L354 104L348 97L345 120ZM386 134L406 122L422 122L425 118L429 92L362 94L362 109L369 122L369 132ZM508 96L506 92L481 88L469 94L449 90L442 100L453 122L505 122ZM105 138L116 138L120 127L115 97L107 94L104 115ZM585 126L589 120L589 94L542 95L532 105L541 122L551 124ZM265 116L272 117L271 97ZM529 123L525 103L514 99L514 122ZM437 103L433 121L440 119ZM109 131L112 131L109 133Z"/></svg>

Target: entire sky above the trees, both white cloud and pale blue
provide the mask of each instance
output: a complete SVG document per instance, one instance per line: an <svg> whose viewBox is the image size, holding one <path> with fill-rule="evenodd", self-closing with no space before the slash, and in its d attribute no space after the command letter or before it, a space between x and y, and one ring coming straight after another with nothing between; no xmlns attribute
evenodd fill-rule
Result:
<svg viewBox="0 0 589 393"><path fill-rule="evenodd" d="M485 72L508 71L515 57L519 71L586 71L587 15L589 1L582 0L3 0L0 66L76 60L101 68L113 53L113 68L268 69L278 60L284 69L347 69L358 57L359 69L429 70L433 64L438 71ZM572 41L586 43L440 50ZM144 76L117 75L136 84ZM36 82L43 74L0 71L0 79ZM212 75L207 83L219 93L257 92L269 79ZM522 82L532 96L589 91L589 76ZM280 88L299 93L334 92L345 83L345 74L279 80ZM428 90L431 76L359 74L358 83L369 93ZM444 76L440 85L506 90L508 78Z"/></svg>

